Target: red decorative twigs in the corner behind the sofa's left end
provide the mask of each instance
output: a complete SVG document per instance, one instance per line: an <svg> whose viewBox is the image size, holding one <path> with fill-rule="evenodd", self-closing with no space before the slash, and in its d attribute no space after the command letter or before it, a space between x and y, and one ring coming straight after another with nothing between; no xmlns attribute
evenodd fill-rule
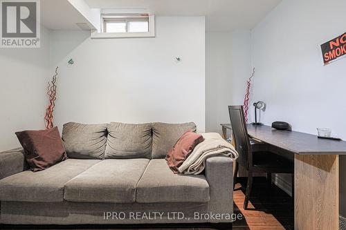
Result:
<svg viewBox="0 0 346 230"><path fill-rule="evenodd" d="M57 68L59 68L57 66ZM48 91L47 95L49 98L49 106L46 108L46 115L44 116L44 121L46 123L46 128L50 129L53 128L53 111L55 107L55 95L57 94L57 86L55 85L55 82L57 82L57 68L55 68L55 75L53 76L53 79L51 82L48 82Z"/></svg>

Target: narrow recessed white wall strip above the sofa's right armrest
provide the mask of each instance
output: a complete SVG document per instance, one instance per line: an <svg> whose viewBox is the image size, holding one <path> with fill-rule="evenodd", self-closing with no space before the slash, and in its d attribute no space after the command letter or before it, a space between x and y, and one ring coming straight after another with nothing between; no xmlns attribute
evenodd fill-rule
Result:
<svg viewBox="0 0 346 230"><path fill-rule="evenodd" d="M206 131L221 133L232 99L232 33L206 33Z"/></svg>

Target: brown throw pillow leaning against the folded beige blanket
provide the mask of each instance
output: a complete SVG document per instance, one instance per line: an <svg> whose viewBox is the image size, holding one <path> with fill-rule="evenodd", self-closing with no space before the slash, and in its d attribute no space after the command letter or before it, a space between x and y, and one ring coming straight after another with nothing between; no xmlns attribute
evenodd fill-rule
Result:
<svg viewBox="0 0 346 230"><path fill-rule="evenodd" d="M186 131L167 153L167 164L173 173L179 173L179 166L188 158L197 144L203 142L202 135Z"/></svg>

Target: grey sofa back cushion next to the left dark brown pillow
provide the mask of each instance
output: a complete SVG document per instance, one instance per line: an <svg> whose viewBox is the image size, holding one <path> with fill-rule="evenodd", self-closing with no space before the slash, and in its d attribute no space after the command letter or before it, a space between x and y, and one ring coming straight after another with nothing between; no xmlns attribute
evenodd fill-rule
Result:
<svg viewBox="0 0 346 230"><path fill-rule="evenodd" d="M62 140L67 156L79 159L103 159L107 144L107 124L64 124Z"/></svg>

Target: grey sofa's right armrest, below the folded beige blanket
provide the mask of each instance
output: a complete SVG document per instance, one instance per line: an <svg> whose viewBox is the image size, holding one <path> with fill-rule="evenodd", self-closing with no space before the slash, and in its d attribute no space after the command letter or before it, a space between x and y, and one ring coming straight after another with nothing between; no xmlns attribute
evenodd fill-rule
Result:
<svg viewBox="0 0 346 230"><path fill-rule="evenodd" d="M233 213L233 160L226 156L206 160L206 180L210 188L209 211ZM229 222L222 220L221 222ZM220 222L220 221L219 221Z"/></svg>

